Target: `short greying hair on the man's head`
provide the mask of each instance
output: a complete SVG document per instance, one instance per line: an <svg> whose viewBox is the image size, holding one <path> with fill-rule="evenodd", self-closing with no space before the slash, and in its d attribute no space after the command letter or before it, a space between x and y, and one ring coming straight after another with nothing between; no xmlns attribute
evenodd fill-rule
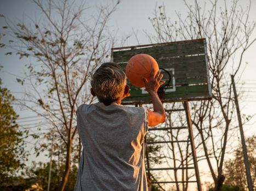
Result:
<svg viewBox="0 0 256 191"><path fill-rule="evenodd" d="M104 100L115 102L123 96L126 74L120 65L106 62L96 69L90 84L100 102Z"/></svg>

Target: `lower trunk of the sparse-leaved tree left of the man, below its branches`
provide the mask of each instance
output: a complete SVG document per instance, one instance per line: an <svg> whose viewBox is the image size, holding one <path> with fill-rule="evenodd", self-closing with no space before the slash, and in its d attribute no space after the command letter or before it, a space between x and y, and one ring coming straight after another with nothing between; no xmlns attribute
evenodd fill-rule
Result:
<svg viewBox="0 0 256 191"><path fill-rule="evenodd" d="M59 186L59 191L63 191L64 190L64 188L66 186L66 183L67 183L67 178L69 178L71 145L72 145L72 141L69 140L69 142L67 142L67 155L66 155L65 171L64 171L64 174L62 176L61 184Z"/></svg>

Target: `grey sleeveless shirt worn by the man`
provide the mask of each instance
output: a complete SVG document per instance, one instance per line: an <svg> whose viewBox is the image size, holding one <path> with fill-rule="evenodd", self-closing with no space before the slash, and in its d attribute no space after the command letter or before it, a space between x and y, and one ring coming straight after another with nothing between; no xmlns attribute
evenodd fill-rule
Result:
<svg viewBox="0 0 256 191"><path fill-rule="evenodd" d="M77 111L77 128L83 151L75 190L147 190L145 108L83 104Z"/></svg>

